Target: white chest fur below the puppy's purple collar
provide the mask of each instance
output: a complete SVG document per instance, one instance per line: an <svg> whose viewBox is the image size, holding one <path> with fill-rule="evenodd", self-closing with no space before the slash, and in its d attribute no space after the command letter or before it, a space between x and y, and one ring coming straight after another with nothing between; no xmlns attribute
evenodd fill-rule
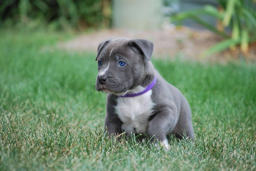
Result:
<svg viewBox="0 0 256 171"><path fill-rule="evenodd" d="M122 131L145 134L149 116L155 105L151 100L152 90L135 97L118 98L116 113L123 122Z"/></svg>

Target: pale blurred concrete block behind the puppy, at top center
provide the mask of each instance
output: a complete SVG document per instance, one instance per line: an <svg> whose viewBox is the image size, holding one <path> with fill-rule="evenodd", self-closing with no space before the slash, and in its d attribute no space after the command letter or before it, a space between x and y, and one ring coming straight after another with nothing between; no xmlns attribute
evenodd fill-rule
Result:
<svg viewBox="0 0 256 171"><path fill-rule="evenodd" d="M112 0L114 28L155 30L162 21L161 0Z"/></svg>

